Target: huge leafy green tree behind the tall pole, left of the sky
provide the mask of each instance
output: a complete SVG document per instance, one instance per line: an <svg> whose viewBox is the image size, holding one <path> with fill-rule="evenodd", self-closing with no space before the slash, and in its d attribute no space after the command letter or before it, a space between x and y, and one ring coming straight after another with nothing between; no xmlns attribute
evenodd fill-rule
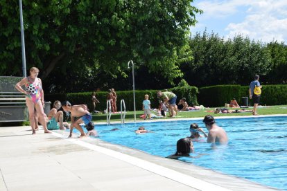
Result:
<svg viewBox="0 0 287 191"><path fill-rule="evenodd" d="M161 71L170 82L178 62L190 59L189 28L202 13L192 0L23 1L27 67L41 78L54 69L79 75L95 63L108 75L125 75L128 60ZM21 75L17 0L0 0L0 73ZM189 51L187 51L189 52ZM81 76L82 78L82 76ZM56 85L56 84L54 84Z"/></svg>

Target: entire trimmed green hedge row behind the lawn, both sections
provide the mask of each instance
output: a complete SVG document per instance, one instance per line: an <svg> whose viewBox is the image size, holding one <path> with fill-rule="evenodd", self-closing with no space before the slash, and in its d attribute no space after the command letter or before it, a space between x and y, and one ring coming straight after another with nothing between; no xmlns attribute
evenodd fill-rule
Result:
<svg viewBox="0 0 287 191"><path fill-rule="evenodd" d="M185 97L189 105L202 104L205 107L222 107L229 103L232 98L236 98L238 104L243 104L243 97L249 97L249 87L240 85L218 85L213 87L202 87L198 90L196 87L175 87L169 89L177 95L177 102ZM134 101L132 91L117 91L117 110L120 111L121 99L125 100L125 107L128 111L133 111ZM152 108L158 107L158 98L156 90L139 90L135 91L136 109L141 110L144 95L150 96ZM67 93L46 95L45 100L51 102L55 100L69 100L71 104L87 104L92 109L92 92L84 93ZM96 98L100 101L96 105L96 110L103 111L107 107L107 92L97 92ZM249 100L249 98L248 98ZM252 101L248 101L252 105ZM264 85L259 104L279 105L287 104L287 85Z"/></svg>

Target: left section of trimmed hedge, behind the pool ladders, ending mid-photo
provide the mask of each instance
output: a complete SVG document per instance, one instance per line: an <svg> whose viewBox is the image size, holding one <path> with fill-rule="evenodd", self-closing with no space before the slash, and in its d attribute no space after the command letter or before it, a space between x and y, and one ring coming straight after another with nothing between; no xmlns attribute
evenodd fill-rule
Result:
<svg viewBox="0 0 287 191"><path fill-rule="evenodd" d="M192 105L198 105L197 101L197 93L198 88L196 87L175 87L173 89L169 89L169 91L173 91L177 95L177 102L185 97L187 102ZM159 99L157 98L156 90L137 90L135 91L135 103L136 109L142 109L142 102L144 100L144 95L148 94L149 100L152 108L158 108ZM125 107L127 111L134 110L134 98L133 91L116 91L117 96L117 111L121 111L120 105L121 100L125 101ZM107 108L107 92L98 91L96 92L96 98L100 103L96 104L96 110L103 111ZM45 94L45 100L49 100L52 102L55 100L69 100L71 104L87 104L89 109L92 109L92 92L82 92L82 93L67 93L67 94Z"/></svg>

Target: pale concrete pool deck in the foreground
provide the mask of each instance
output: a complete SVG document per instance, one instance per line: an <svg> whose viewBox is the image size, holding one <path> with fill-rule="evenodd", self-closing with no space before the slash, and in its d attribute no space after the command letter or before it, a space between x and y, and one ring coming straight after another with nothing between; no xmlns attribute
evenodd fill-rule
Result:
<svg viewBox="0 0 287 191"><path fill-rule="evenodd" d="M0 190L275 190L97 138L0 128Z"/></svg>

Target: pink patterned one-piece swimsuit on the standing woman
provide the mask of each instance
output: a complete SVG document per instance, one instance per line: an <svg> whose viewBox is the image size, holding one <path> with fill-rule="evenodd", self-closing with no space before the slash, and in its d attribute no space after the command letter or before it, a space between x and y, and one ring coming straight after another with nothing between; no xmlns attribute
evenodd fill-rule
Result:
<svg viewBox="0 0 287 191"><path fill-rule="evenodd" d="M41 90L42 85L40 83L39 78L36 78L34 82L31 82L29 80L29 77L27 77L28 83L26 86L26 91L28 91L30 94L27 95L28 98L30 98L35 104L40 100L41 98Z"/></svg>

